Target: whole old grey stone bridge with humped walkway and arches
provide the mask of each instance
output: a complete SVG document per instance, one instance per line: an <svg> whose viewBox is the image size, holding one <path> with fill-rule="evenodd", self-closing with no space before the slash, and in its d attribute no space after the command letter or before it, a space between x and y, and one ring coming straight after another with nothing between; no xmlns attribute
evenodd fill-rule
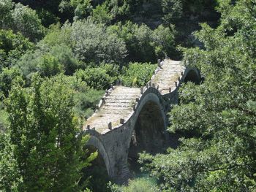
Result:
<svg viewBox="0 0 256 192"><path fill-rule="evenodd" d="M138 153L159 153L168 146L167 112L178 104L182 82L200 82L197 69L185 68L181 61L166 59L143 88L114 86L106 91L99 108L83 126L90 134L88 146L99 151L108 175L124 183L131 173L129 158Z"/></svg>

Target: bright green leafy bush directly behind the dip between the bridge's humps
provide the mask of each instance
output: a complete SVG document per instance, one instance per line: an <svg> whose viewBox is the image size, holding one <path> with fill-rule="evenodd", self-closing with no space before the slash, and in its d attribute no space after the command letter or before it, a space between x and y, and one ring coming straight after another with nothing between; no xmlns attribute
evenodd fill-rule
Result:
<svg viewBox="0 0 256 192"><path fill-rule="evenodd" d="M123 67L120 80L125 86L142 87L151 79L156 68L156 65L148 63L130 63L128 67Z"/></svg>

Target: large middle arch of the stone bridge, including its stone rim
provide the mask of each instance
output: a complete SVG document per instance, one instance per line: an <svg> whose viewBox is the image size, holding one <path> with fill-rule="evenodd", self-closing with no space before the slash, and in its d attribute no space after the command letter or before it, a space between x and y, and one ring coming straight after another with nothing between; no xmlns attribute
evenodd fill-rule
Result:
<svg viewBox="0 0 256 192"><path fill-rule="evenodd" d="M127 154L129 163L136 164L138 153L144 150L153 154L163 152L167 142L164 105L161 94L155 88L148 88L140 98L132 117Z"/></svg>

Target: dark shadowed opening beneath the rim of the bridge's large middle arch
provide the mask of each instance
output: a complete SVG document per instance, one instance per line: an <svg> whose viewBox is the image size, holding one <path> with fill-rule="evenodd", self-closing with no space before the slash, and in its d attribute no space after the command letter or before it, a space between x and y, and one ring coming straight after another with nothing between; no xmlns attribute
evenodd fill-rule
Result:
<svg viewBox="0 0 256 192"><path fill-rule="evenodd" d="M140 165L138 153L163 153L167 145L165 119L159 104L148 101L138 115L129 145L128 164L133 173L138 173Z"/></svg>

